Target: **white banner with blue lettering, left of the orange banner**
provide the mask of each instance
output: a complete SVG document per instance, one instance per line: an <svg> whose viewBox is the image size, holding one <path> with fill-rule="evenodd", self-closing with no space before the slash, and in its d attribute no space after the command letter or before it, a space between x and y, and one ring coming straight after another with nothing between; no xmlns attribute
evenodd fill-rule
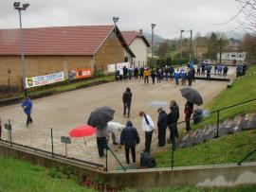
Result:
<svg viewBox="0 0 256 192"><path fill-rule="evenodd" d="M46 76L36 76L32 78L26 78L26 87L37 87L42 85L47 85L55 82L64 81L64 72L59 72L55 74L48 74Z"/></svg>

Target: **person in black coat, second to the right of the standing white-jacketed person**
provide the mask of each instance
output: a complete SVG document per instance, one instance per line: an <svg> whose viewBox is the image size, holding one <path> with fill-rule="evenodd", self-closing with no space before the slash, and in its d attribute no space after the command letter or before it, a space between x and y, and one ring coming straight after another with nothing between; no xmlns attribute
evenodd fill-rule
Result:
<svg viewBox="0 0 256 192"><path fill-rule="evenodd" d="M179 119L179 109L176 101L172 100L170 105L171 112L167 116L167 124L170 130L170 138L169 141L174 141L174 137L178 137L177 131L177 121Z"/></svg>

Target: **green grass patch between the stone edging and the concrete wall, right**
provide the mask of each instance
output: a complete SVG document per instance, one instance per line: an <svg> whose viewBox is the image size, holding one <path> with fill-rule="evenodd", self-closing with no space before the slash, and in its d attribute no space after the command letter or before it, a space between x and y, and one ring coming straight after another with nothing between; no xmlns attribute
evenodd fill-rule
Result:
<svg viewBox="0 0 256 192"><path fill-rule="evenodd" d="M238 163L255 147L256 130L234 133L191 148L177 148L174 152L174 166ZM154 156L158 167L171 166L170 148L155 152ZM247 162L256 162L256 153Z"/></svg>

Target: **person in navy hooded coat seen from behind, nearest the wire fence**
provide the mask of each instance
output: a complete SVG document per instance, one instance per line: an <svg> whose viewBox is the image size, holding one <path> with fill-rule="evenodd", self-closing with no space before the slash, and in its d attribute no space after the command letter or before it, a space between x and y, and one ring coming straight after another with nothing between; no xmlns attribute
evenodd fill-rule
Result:
<svg viewBox="0 0 256 192"><path fill-rule="evenodd" d="M136 146L139 143L139 136L137 129L133 127L133 123L128 120L126 127L121 131L120 135L120 144L124 145L125 148L125 157L127 166L130 165L129 153L131 150L133 157L133 164L136 164Z"/></svg>

